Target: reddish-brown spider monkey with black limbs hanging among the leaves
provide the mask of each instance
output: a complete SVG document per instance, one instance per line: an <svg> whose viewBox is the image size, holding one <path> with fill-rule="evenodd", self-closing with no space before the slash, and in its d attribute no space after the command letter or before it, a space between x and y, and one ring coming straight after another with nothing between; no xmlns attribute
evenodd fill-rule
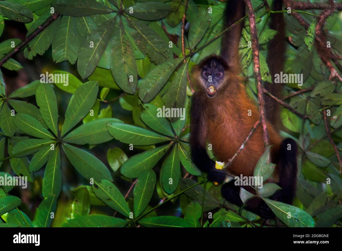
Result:
<svg viewBox="0 0 342 251"><path fill-rule="evenodd" d="M273 10L281 10L282 1L275 0ZM229 27L245 15L242 0L230 0L225 9L225 27ZM267 62L272 78L279 73L284 64L285 21L282 13L272 14L271 28L277 31L269 41ZM193 95L190 121L191 155L197 167L208 173L208 180L222 183L226 178L224 170L215 169L215 162L209 158L206 143L212 144L215 157L227 162L239 149L254 123L259 120L259 110L243 85L239 58L239 42L244 24L235 25L224 33L221 55L211 55L203 59L193 70L193 79L197 87ZM273 81L273 80L272 80ZM282 86L265 83L265 88L273 95L281 95ZM271 148L271 163L277 164L272 181L279 190L271 199L291 204L297 180L297 144L292 139L282 140L279 136L279 110L277 103L265 97L267 129ZM251 116L248 116L251 110ZM291 150L287 150L288 146ZM254 167L264 152L263 132L259 126L239 155L227 167L237 176L253 176ZM251 190L250 187L244 187ZM234 180L222 185L221 194L229 202L241 206L240 187ZM250 191L252 192L252 191ZM248 210L258 213L263 218L274 217L264 201L255 197L247 201Z"/></svg>

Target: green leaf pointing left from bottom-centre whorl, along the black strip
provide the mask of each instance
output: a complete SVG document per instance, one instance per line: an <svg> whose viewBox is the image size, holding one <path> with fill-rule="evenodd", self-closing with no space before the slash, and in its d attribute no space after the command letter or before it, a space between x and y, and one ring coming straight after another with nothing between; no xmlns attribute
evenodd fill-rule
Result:
<svg viewBox="0 0 342 251"><path fill-rule="evenodd" d="M68 220L61 227L124 227L126 224L127 221L120 218L91 214Z"/></svg>

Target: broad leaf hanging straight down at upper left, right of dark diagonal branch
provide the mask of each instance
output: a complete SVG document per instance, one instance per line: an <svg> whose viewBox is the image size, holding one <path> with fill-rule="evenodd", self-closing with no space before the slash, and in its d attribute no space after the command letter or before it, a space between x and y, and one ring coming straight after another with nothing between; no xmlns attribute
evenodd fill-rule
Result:
<svg viewBox="0 0 342 251"><path fill-rule="evenodd" d="M75 64L80 48L80 37L76 29L75 17L63 16L52 41L52 58L56 63L68 60Z"/></svg>

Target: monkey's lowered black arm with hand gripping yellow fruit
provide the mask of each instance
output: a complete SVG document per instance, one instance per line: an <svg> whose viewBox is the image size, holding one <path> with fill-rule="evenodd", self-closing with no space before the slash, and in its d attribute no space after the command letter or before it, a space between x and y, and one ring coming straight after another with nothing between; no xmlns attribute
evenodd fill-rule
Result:
<svg viewBox="0 0 342 251"><path fill-rule="evenodd" d="M226 174L215 168L215 162L209 158L206 150L207 125L204 120L203 107L196 93L193 95L190 121L190 148L195 165L208 173L208 180L223 182Z"/></svg>

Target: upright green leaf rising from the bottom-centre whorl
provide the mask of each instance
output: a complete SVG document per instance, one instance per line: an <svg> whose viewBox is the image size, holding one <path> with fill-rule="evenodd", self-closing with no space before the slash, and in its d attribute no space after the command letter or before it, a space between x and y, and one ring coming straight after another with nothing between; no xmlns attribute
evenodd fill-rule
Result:
<svg viewBox="0 0 342 251"><path fill-rule="evenodd" d="M138 217L147 207L156 185L156 174L150 169L140 173L133 190L134 217Z"/></svg>

